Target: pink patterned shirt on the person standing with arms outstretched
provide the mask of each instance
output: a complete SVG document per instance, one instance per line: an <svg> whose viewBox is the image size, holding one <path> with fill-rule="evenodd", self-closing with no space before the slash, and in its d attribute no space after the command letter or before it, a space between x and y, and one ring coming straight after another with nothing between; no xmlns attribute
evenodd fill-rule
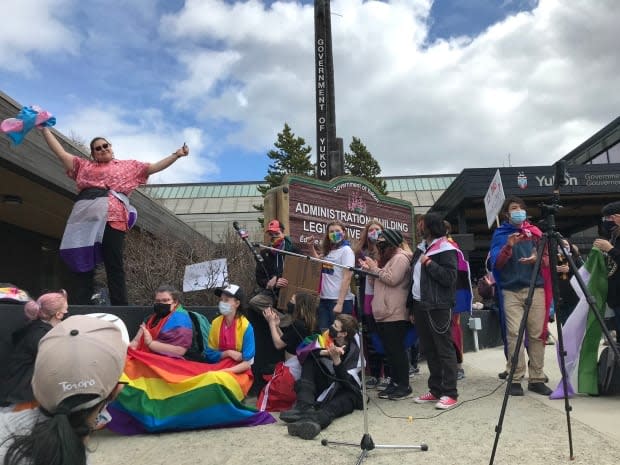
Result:
<svg viewBox="0 0 620 465"><path fill-rule="evenodd" d="M136 187L146 184L149 166L136 160L113 159L108 163L96 163L73 157L73 170L67 171L67 175L75 180L78 191L111 189L129 196ZM108 194L108 222L114 229L127 231L127 210L112 194Z"/></svg>

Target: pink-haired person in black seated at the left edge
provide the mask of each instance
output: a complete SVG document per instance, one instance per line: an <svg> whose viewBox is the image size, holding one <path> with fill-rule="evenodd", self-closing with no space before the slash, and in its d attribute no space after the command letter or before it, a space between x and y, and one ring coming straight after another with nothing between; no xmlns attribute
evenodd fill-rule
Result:
<svg viewBox="0 0 620 465"><path fill-rule="evenodd" d="M36 406L32 393L32 373L39 341L67 314L67 293L64 289L46 292L24 306L30 320L12 335L13 351L9 356L6 376L0 385L0 405L14 406L14 411Z"/></svg>

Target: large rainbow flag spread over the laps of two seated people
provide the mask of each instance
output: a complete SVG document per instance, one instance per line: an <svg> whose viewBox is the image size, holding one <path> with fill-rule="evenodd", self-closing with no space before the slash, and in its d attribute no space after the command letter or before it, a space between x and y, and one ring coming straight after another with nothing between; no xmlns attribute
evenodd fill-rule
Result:
<svg viewBox="0 0 620 465"><path fill-rule="evenodd" d="M131 435L274 423L241 401L252 373L220 371L234 362L191 362L129 349L121 381L128 384L108 409L112 431Z"/></svg>

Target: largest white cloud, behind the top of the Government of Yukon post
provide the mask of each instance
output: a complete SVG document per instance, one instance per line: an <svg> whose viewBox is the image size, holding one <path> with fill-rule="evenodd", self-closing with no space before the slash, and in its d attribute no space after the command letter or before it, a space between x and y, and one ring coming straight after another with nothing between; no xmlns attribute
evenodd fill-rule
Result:
<svg viewBox="0 0 620 465"><path fill-rule="evenodd" d="M541 0L477 37L428 44L430 7L332 2L338 134L360 137L384 174L502 165L508 153L550 164L617 116L616 0ZM287 121L315 146L311 5L188 0L160 31L188 69L171 95L239 122L229 143L267 149Z"/></svg>

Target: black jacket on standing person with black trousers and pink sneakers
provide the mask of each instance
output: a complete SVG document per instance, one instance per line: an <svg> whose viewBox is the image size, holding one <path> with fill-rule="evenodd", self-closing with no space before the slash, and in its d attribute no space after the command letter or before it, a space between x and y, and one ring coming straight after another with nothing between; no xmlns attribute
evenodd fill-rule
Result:
<svg viewBox="0 0 620 465"><path fill-rule="evenodd" d="M411 271L422 255L416 249ZM429 309L451 309L456 304L456 278L458 258L456 250L447 250L428 257L431 261L422 264L420 272L421 304Z"/></svg>

